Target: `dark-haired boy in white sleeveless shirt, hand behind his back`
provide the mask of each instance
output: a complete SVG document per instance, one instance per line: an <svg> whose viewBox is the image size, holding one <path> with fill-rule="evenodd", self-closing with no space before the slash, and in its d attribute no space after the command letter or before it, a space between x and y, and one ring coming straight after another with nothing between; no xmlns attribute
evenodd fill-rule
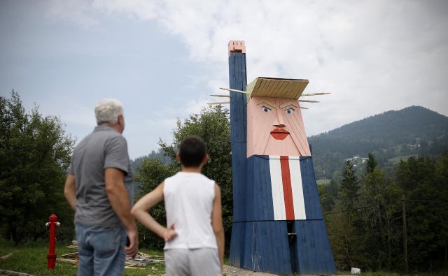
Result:
<svg viewBox="0 0 448 276"><path fill-rule="evenodd" d="M204 141L182 141L177 159L182 171L168 177L132 208L132 215L165 240L167 275L222 275L224 229L221 191L201 174L208 155ZM165 200L168 228L146 212ZM220 269L221 266L221 269Z"/></svg>

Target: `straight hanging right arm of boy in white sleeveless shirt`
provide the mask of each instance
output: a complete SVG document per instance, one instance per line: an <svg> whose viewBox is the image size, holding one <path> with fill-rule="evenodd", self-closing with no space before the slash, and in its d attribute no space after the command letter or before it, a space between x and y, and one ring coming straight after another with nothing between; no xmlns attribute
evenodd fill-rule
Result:
<svg viewBox="0 0 448 276"><path fill-rule="evenodd" d="M223 215L221 210L221 191L218 184L215 183L215 199L213 201L213 211L211 212L211 226L216 236L218 244L219 261L221 263L221 271L224 265L224 227Z"/></svg>

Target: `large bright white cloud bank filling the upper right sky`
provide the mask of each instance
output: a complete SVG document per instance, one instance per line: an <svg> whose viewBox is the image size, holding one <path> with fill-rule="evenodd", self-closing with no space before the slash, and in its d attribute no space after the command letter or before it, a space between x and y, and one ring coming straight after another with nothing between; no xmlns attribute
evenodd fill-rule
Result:
<svg viewBox="0 0 448 276"><path fill-rule="evenodd" d="M82 15L85 5L76 11L69 1L64 9L73 8L68 16L80 24L93 24ZM307 92L332 92L304 110L309 135L411 105L448 115L444 1L96 0L91 6L155 20L179 36L190 59L209 69L200 80L211 91L228 86L232 39L246 41L249 82L309 78ZM199 112L207 102L191 100L186 112Z"/></svg>

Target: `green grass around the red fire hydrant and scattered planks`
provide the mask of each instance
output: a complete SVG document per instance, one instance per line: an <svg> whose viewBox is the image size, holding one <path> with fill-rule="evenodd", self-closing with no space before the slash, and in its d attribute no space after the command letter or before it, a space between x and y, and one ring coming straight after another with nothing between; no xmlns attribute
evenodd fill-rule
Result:
<svg viewBox="0 0 448 276"><path fill-rule="evenodd" d="M66 244L69 245L69 244ZM57 245L56 254L59 257L65 253L76 252L76 249L66 248L65 244ZM161 251L140 249L150 255L163 256ZM13 242L0 240L0 256L13 252L5 261L0 261L0 270L13 270L32 275L76 275L77 268L69 263L56 263L54 270L47 269L48 243L31 242L28 245L14 246ZM154 268L154 269L153 269ZM144 269L125 269L125 275L147 276L165 273L163 263L148 264Z"/></svg>

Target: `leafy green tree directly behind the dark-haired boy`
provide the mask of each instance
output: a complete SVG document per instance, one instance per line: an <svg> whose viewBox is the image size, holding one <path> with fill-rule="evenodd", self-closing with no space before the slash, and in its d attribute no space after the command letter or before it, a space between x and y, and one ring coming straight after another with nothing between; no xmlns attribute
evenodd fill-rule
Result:
<svg viewBox="0 0 448 276"><path fill-rule="evenodd" d="M210 179L215 180L221 187L223 224L226 240L230 242L233 201L228 110L223 109L222 106L214 106L202 110L199 114L190 115L184 121L179 119L176 129L173 131L173 142L169 144L161 140L159 143L163 152L172 159L172 162L164 165L159 161L146 161L146 163L144 161L141 169L137 171L137 180L141 183L140 187L142 192L151 191L165 177L179 171L181 166L176 159L176 152L182 140L193 135L200 136L207 143L209 163L204 166L202 173ZM159 221L164 222L165 213L162 215L162 212L160 212L160 215Z"/></svg>

